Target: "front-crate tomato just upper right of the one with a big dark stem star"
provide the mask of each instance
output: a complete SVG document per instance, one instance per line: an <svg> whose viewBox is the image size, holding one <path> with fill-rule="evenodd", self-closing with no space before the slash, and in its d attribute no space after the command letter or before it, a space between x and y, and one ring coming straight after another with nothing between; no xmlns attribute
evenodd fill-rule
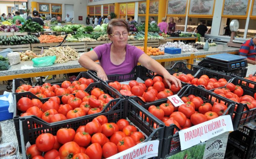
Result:
<svg viewBox="0 0 256 159"><path fill-rule="evenodd" d="M77 132L74 137L74 142L79 146L86 147L91 143L91 135L88 132Z"/></svg>

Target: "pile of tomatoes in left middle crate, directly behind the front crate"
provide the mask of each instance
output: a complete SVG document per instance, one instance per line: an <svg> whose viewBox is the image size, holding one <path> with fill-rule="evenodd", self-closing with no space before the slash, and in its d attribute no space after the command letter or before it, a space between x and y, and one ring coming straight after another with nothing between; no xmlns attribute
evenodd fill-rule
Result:
<svg viewBox="0 0 256 159"><path fill-rule="evenodd" d="M114 99L100 88L93 88L90 94L83 90L75 90L74 93L75 95L67 93L61 97L50 97L44 103L39 99L22 97L17 102L17 109L25 112L21 117L35 115L46 122L57 122L101 112Z"/></svg>

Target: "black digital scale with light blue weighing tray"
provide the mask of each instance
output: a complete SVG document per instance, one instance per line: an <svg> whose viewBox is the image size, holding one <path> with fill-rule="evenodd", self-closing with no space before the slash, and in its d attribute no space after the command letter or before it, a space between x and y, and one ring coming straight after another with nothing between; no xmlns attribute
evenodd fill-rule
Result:
<svg viewBox="0 0 256 159"><path fill-rule="evenodd" d="M198 63L198 66L209 67L219 71L232 71L247 67L246 57L233 54L215 54L207 55L202 61Z"/></svg>

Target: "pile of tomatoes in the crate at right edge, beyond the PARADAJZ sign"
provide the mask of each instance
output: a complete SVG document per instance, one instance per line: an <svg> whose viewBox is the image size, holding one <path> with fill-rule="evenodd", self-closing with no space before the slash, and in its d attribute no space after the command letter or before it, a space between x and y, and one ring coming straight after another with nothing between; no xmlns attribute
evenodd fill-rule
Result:
<svg viewBox="0 0 256 159"><path fill-rule="evenodd" d="M242 84L245 85L246 82L244 83L244 81L243 81ZM249 87L253 88L254 84L249 84ZM228 83L226 85L226 87L214 89L213 92L215 92L216 94L218 94L222 97L225 97L232 101L235 101L237 103L247 104L249 109L253 109L256 107L256 92L254 93L254 97L249 96L249 95L243 96L244 90L239 85L234 85L232 83ZM246 110L246 108L244 109L244 111L245 110Z"/></svg>

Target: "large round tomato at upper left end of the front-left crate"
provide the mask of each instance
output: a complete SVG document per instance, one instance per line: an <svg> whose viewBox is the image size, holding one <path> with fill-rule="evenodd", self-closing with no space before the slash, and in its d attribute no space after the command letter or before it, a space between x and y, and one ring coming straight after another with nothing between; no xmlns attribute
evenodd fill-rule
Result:
<svg viewBox="0 0 256 159"><path fill-rule="evenodd" d="M36 138L36 147L39 151L47 152L53 148L55 144L55 138L50 133L40 134Z"/></svg>

